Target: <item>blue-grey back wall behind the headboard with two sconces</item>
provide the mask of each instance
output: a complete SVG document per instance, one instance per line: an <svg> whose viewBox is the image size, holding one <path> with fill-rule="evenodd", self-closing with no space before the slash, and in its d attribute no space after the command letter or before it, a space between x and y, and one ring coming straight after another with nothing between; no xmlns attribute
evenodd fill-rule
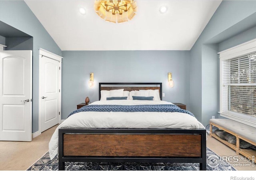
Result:
<svg viewBox="0 0 256 180"><path fill-rule="evenodd" d="M189 109L189 51L62 51L62 119L76 105L98 100L98 82L162 82L163 100ZM94 87L89 88L90 72ZM170 88L168 72L174 87Z"/></svg>

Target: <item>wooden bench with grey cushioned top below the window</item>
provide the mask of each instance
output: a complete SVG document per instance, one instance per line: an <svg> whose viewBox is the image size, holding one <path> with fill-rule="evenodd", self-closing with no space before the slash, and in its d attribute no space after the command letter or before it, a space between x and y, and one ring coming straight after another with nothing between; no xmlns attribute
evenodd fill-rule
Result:
<svg viewBox="0 0 256 180"><path fill-rule="evenodd" d="M212 126L224 130L234 136L236 136L236 145L222 140L214 132L212 132ZM240 139L256 146L256 128L248 126L246 124L230 120L230 119L210 119L210 137L214 137L220 142L226 144L230 148L236 151L236 154L242 154L246 158L252 160L252 156L255 158L256 150L242 149L240 148Z"/></svg>

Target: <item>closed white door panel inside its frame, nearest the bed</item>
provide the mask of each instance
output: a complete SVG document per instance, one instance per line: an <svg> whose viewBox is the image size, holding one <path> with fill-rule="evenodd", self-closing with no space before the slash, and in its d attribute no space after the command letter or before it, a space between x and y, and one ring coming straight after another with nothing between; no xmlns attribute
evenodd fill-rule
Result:
<svg viewBox="0 0 256 180"><path fill-rule="evenodd" d="M55 126L60 119L60 62L41 58L41 132Z"/></svg>

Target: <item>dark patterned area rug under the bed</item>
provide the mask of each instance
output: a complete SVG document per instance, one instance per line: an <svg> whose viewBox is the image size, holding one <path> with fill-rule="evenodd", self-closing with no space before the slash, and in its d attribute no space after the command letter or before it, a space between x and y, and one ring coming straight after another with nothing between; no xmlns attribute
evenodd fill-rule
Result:
<svg viewBox="0 0 256 180"><path fill-rule="evenodd" d="M218 156L209 148L206 149L206 159L210 156ZM218 156L219 157L219 156ZM58 170L58 155L50 160L49 152L44 154L35 164L27 170ZM66 162L65 170L199 170L198 163L107 163L107 162ZM206 166L206 170L236 170L232 166L220 166L215 168Z"/></svg>

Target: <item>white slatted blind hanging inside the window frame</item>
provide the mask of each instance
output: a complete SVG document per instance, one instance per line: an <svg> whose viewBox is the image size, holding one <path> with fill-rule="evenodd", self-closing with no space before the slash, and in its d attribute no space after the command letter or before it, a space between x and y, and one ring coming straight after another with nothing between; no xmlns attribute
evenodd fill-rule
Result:
<svg viewBox="0 0 256 180"><path fill-rule="evenodd" d="M256 121L256 52L222 60L221 113Z"/></svg>

